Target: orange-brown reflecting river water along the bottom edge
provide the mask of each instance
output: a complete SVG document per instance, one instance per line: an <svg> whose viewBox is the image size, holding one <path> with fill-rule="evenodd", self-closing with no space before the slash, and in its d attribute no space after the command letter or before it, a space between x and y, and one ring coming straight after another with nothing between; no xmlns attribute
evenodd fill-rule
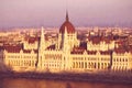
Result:
<svg viewBox="0 0 132 88"><path fill-rule="evenodd" d="M132 88L132 85L25 79L25 78L4 78L4 79L0 79L0 88Z"/></svg>

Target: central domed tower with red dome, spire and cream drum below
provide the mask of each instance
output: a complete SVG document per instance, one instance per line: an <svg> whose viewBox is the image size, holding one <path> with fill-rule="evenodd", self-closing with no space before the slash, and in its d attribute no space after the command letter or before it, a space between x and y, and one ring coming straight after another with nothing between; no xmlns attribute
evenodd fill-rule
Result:
<svg viewBox="0 0 132 88"><path fill-rule="evenodd" d="M58 34L58 44L57 48L63 50L64 36L67 33L67 45L69 45L69 50L72 51L74 46L79 46L79 41L77 40L77 33L75 31L74 25L69 21L68 12L66 11L65 22L62 24Z"/></svg>

